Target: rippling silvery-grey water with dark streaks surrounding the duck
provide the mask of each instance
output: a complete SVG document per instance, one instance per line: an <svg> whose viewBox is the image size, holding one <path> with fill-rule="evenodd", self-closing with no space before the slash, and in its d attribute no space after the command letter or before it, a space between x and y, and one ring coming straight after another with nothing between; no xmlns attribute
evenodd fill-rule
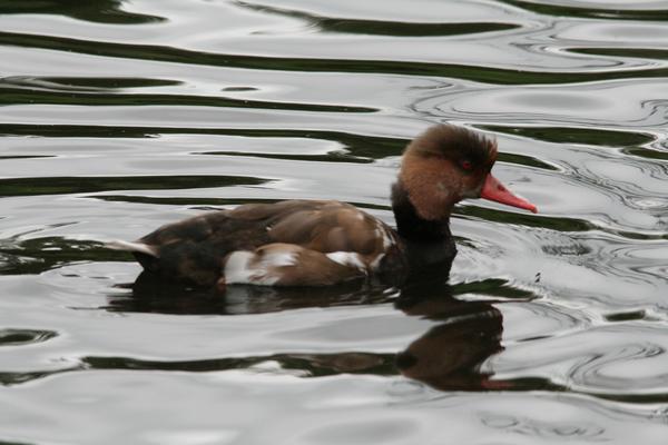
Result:
<svg viewBox="0 0 668 445"><path fill-rule="evenodd" d="M668 443L668 3L0 3L0 443ZM494 136L448 285L130 287L209 208L392 222L406 140Z"/></svg>

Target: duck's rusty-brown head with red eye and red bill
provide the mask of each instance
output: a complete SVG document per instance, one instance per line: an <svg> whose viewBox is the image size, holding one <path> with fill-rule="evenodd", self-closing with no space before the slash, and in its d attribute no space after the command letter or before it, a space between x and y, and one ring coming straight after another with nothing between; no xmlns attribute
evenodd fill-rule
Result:
<svg viewBox="0 0 668 445"><path fill-rule="evenodd" d="M537 212L491 174L497 142L452 125L438 125L404 151L399 178L420 217L446 219L454 204L483 198Z"/></svg>

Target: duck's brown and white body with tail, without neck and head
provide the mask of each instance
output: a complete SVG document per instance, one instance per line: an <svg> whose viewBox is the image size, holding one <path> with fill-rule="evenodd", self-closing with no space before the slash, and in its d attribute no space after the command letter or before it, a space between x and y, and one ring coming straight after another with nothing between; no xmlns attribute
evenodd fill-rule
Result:
<svg viewBox="0 0 668 445"><path fill-rule="evenodd" d="M169 224L135 243L145 269L210 285L327 285L377 269L396 235L338 201L253 204Z"/></svg>

